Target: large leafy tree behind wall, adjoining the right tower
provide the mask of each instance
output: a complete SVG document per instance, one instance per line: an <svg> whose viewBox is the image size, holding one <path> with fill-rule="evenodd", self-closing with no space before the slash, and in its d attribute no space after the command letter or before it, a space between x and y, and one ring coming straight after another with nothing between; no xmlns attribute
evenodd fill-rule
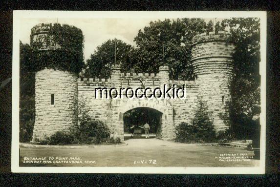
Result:
<svg viewBox="0 0 280 187"><path fill-rule="evenodd" d="M194 79L190 62L192 39L205 28L204 20L196 18L151 21L134 38L138 55L133 67L141 67L142 72L158 72L159 66L163 65L164 45L165 64L170 67L171 79Z"/></svg>

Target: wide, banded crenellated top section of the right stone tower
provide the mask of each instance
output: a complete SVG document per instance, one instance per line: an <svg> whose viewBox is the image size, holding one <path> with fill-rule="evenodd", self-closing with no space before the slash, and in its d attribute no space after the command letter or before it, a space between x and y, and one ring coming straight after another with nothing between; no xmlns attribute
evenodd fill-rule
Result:
<svg viewBox="0 0 280 187"><path fill-rule="evenodd" d="M232 74L235 45L226 31L202 33L194 36L192 64L196 75L226 73Z"/></svg>

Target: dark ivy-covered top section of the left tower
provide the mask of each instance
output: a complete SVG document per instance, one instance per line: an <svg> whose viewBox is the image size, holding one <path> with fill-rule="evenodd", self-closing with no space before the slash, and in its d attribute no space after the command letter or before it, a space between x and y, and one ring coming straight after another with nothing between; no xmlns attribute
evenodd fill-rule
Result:
<svg viewBox="0 0 280 187"><path fill-rule="evenodd" d="M34 71L51 68L79 73L84 66L84 35L74 26L55 23L48 32L31 33Z"/></svg>

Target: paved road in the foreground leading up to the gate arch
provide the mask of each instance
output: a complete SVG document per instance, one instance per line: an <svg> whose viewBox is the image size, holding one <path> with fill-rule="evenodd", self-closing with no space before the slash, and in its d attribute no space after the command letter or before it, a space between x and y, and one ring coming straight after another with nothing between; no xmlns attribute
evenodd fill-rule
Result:
<svg viewBox="0 0 280 187"><path fill-rule="evenodd" d="M220 154L253 156L253 151L224 146L177 144L151 139L129 139L128 145L94 148L21 147L20 166L258 166L259 160L219 161ZM80 157L82 163L23 164L24 157ZM227 156L224 156L227 157ZM223 159L226 160L226 159ZM73 162L74 160L72 160ZM95 163L90 163L90 162ZM76 161L77 162L77 161ZM146 162L146 163L145 163ZM155 164L156 163L156 164Z"/></svg>

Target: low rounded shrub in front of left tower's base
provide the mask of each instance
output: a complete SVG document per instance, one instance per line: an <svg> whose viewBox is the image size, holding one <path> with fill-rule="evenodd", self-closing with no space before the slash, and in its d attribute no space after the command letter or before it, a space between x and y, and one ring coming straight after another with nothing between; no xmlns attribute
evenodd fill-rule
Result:
<svg viewBox="0 0 280 187"><path fill-rule="evenodd" d="M48 145L67 145L72 144L75 140L75 137L73 134L71 134L69 131L57 131L50 137L46 137L46 142ZM41 143L44 143L41 141Z"/></svg>

